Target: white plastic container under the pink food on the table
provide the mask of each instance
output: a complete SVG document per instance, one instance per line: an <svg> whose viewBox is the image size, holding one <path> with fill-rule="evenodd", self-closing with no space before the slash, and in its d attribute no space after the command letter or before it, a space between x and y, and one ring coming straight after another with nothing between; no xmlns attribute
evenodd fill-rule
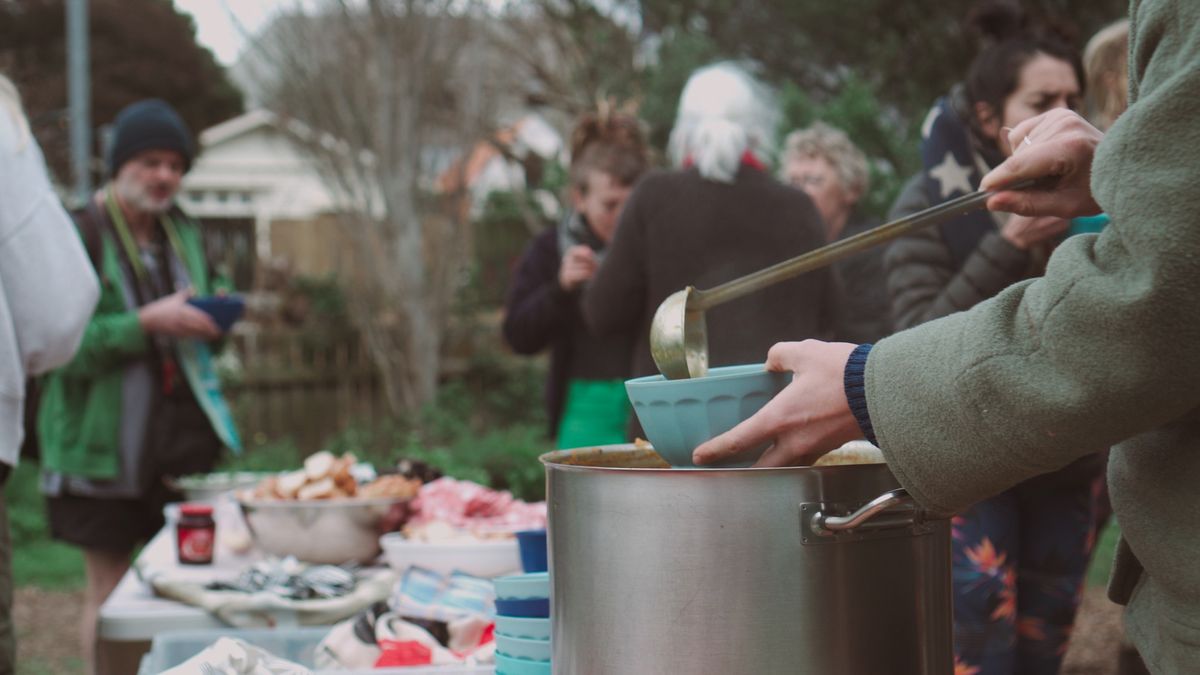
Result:
<svg viewBox="0 0 1200 675"><path fill-rule="evenodd" d="M379 538L388 565L403 573L409 567L424 567L442 574L454 571L493 578L521 572L521 550L515 538L478 542L418 542L398 532Z"/></svg>

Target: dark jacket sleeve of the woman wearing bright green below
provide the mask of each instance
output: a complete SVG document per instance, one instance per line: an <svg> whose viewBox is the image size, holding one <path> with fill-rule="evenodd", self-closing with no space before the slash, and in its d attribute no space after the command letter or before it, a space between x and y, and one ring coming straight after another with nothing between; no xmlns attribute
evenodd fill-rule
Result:
<svg viewBox="0 0 1200 675"><path fill-rule="evenodd" d="M577 294L558 285L560 264L552 232L530 241L521 256L504 303L502 327L514 352L535 354L566 329Z"/></svg>

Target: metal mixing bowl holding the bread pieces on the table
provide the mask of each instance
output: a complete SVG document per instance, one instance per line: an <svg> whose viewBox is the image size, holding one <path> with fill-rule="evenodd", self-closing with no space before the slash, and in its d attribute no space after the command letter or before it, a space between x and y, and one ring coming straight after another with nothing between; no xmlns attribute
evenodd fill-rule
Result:
<svg viewBox="0 0 1200 675"><path fill-rule="evenodd" d="M379 526L408 498L347 497L290 501L239 497L241 512L263 551L305 562L371 562L379 555Z"/></svg>

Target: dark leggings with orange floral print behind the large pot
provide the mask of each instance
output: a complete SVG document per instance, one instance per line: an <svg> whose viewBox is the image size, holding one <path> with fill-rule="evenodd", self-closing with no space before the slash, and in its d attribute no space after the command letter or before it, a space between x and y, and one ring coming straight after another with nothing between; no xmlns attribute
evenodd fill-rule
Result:
<svg viewBox="0 0 1200 675"><path fill-rule="evenodd" d="M1103 476L1056 472L954 518L954 675L1058 673L1100 485Z"/></svg>

